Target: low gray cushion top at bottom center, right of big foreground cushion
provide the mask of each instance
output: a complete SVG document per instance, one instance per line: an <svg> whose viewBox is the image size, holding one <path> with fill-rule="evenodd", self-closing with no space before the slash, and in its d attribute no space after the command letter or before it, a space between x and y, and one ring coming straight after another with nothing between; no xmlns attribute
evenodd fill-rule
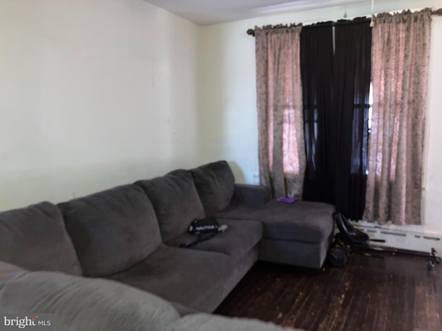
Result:
<svg viewBox="0 0 442 331"><path fill-rule="evenodd" d="M210 314L191 314L176 321L166 331L301 331L282 328L256 319L236 319Z"/></svg>

